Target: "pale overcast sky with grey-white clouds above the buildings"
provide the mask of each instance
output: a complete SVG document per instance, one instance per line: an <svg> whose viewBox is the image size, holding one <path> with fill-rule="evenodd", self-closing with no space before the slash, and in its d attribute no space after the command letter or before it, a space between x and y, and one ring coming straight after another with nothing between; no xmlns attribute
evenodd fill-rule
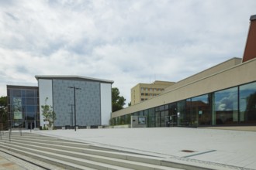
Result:
<svg viewBox="0 0 256 170"><path fill-rule="evenodd" d="M0 0L0 96L35 75L179 81L242 57L255 0Z"/></svg>

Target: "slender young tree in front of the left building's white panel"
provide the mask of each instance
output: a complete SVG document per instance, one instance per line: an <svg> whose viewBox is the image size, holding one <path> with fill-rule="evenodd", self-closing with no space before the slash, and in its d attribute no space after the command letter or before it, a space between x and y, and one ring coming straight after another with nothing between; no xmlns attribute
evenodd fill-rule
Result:
<svg viewBox="0 0 256 170"><path fill-rule="evenodd" d="M48 127L54 128L54 121L56 120L56 114L53 107L47 104L48 97L44 100L44 105L41 106L43 112L43 119L48 121Z"/></svg>

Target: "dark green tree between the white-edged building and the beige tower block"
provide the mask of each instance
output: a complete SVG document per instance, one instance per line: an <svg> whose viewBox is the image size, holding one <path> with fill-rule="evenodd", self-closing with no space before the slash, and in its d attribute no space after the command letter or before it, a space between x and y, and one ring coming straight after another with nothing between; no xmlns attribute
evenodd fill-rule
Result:
<svg viewBox="0 0 256 170"><path fill-rule="evenodd" d="M123 106L126 104L126 99L123 96L119 96L119 89L116 87L112 88L112 111L117 111L123 109Z"/></svg>

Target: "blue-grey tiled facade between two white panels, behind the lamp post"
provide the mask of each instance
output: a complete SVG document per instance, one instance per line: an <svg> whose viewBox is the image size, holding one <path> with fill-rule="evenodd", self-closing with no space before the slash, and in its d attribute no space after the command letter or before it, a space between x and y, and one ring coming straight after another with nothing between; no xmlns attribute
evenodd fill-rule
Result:
<svg viewBox="0 0 256 170"><path fill-rule="evenodd" d="M53 105L57 115L55 126L74 124L71 113L74 113L74 89L76 90L76 124L91 126L101 124L100 83L81 80L53 80ZM73 110L71 110L73 109ZM71 122L73 121L73 122Z"/></svg>

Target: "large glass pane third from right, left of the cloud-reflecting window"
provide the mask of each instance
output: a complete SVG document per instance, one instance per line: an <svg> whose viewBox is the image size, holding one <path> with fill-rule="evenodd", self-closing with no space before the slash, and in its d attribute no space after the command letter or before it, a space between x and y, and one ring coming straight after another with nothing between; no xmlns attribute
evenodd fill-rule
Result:
<svg viewBox="0 0 256 170"><path fill-rule="evenodd" d="M208 94L192 98L192 124L211 124L210 98Z"/></svg>

